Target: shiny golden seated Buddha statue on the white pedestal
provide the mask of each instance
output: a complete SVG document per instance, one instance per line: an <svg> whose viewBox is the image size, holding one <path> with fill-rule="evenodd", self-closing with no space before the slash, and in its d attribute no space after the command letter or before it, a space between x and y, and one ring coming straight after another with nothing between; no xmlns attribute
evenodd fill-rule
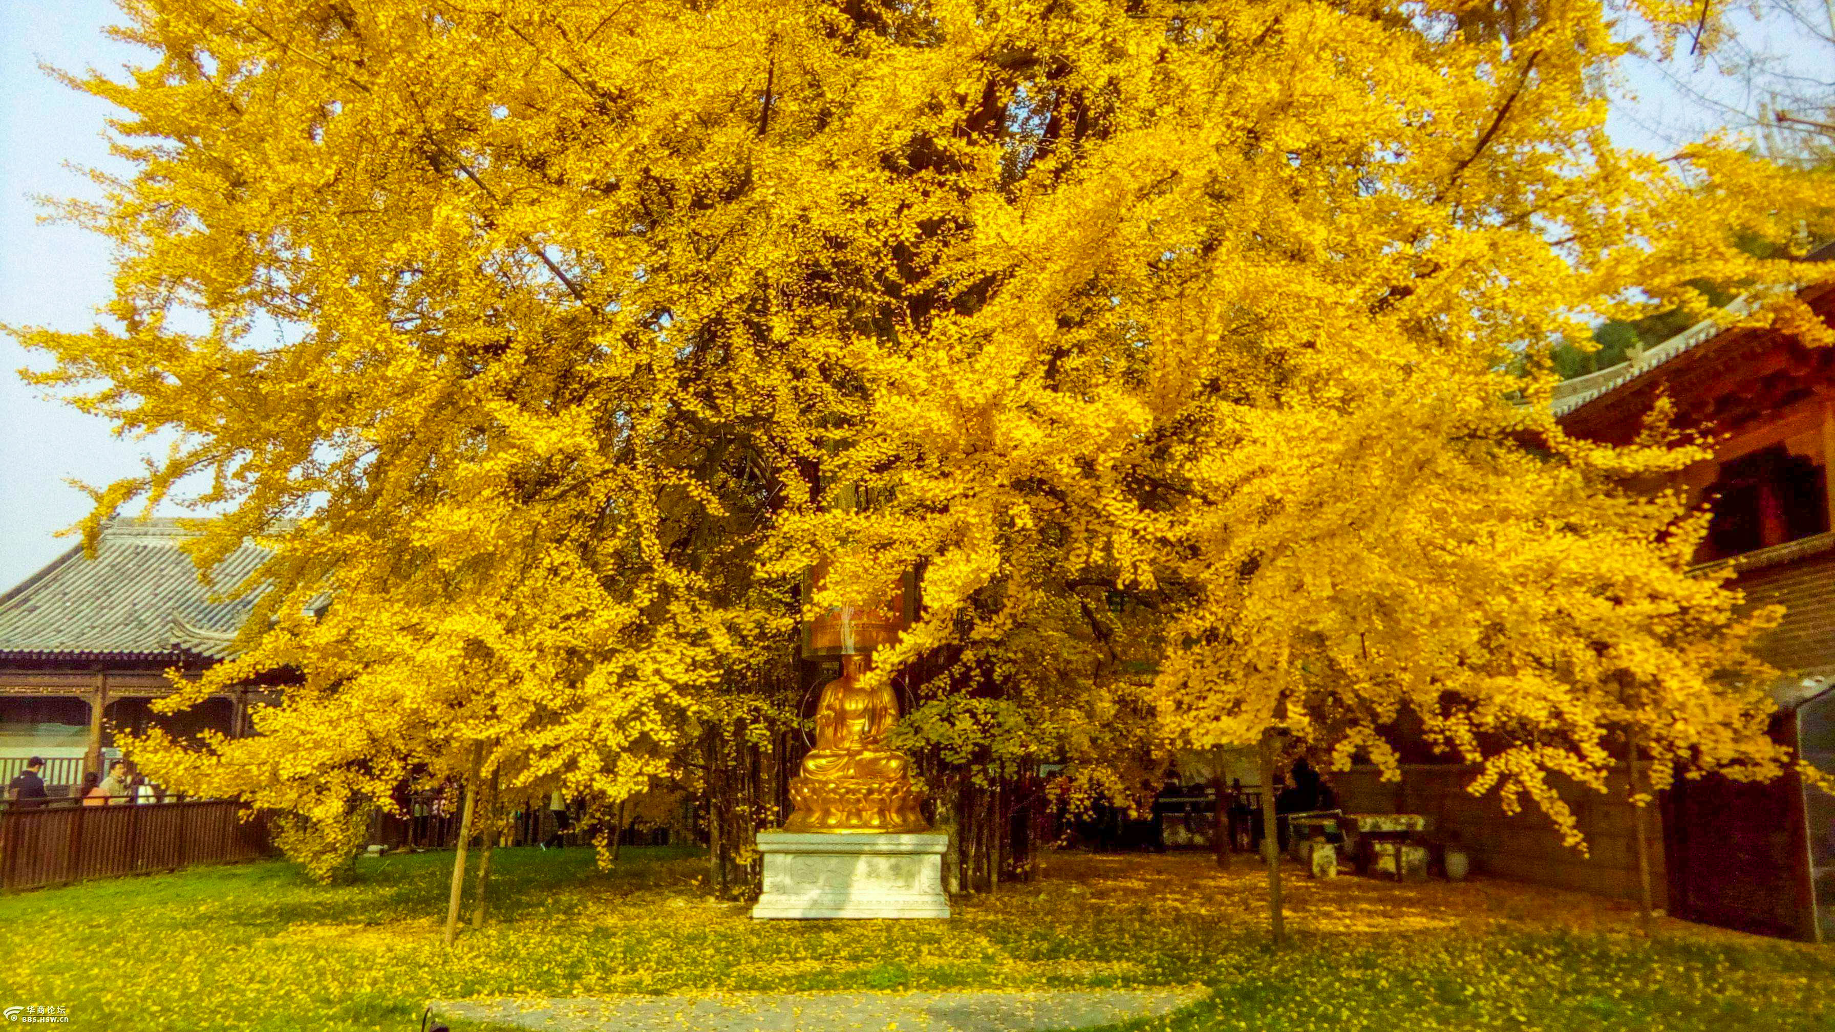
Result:
<svg viewBox="0 0 1835 1032"><path fill-rule="evenodd" d="M884 746L899 718L892 685L866 689L868 656L840 657L840 676L822 685L815 714L815 749L802 777L791 779L795 812L785 832L923 832L921 795L910 782L910 760Z"/></svg>

